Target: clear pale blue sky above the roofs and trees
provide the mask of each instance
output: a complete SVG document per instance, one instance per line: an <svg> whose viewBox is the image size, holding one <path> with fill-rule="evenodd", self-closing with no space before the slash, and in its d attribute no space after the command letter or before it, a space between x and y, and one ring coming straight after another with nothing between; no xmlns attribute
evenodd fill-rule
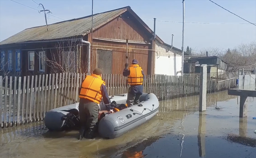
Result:
<svg viewBox="0 0 256 158"><path fill-rule="evenodd" d="M14 0L41 10L42 3L51 15L64 20L92 13L91 0ZM256 0L212 0L240 17L256 23ZM44 13L12 2L0 0L0 39L4 40L26 28L45 25ZM153 30L156 20L182 22L182 0L94 0L93 13L131 6L132 10ZM38 8L37 8L38 7ZM48 24L58 22L50 16ZM55 19L55 20L52 20ZM205 23L248 23L225 11L209 0L185 0L185 21ZM168 44L181 49L182 23L156 23L156 34ZM185 24L184 49L200 50L205 47L233 48L240 43L256 41L256 26L252 24Z"/></svg>

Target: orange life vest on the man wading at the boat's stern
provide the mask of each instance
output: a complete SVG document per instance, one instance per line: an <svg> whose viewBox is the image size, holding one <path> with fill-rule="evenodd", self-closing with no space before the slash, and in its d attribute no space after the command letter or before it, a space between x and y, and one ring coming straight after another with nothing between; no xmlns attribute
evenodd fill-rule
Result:
<svg viewBox="0 0 256 158"><path fill-rule="evenodd" d="M102 92L100 91L102 84L105 85L105 82L99 75L86 76L81 85L79 98L85 98L99 104L102 99Z"/></svg>

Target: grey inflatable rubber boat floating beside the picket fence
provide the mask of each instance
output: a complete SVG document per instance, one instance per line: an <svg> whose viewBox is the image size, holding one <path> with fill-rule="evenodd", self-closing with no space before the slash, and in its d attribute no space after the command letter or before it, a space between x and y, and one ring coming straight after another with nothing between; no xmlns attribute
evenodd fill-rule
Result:
<svg viewBox="0 0 256 158"><path fill-rule="evenodd" d="M154 117L159 110L159 102L155 94L143 93L140 103L132 107L119 108L126 104L127 94L111 96L117 111L108 114L103 102L100 102L98 132L103 138L117 138L140 126ZM44 124L49 130L79 129L79 103L58 107L45 113Z"/></svg>

